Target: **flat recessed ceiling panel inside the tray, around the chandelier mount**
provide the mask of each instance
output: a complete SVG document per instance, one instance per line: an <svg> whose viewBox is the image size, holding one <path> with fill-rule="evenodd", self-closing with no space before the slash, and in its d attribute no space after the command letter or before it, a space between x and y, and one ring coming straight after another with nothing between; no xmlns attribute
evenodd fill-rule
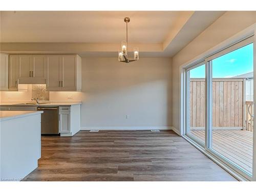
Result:
<svg viewBox="0 0 256 192"><path fill-rule="evenodd" d="M180 11L3 11L2 42L162 42Z"/></svg>

